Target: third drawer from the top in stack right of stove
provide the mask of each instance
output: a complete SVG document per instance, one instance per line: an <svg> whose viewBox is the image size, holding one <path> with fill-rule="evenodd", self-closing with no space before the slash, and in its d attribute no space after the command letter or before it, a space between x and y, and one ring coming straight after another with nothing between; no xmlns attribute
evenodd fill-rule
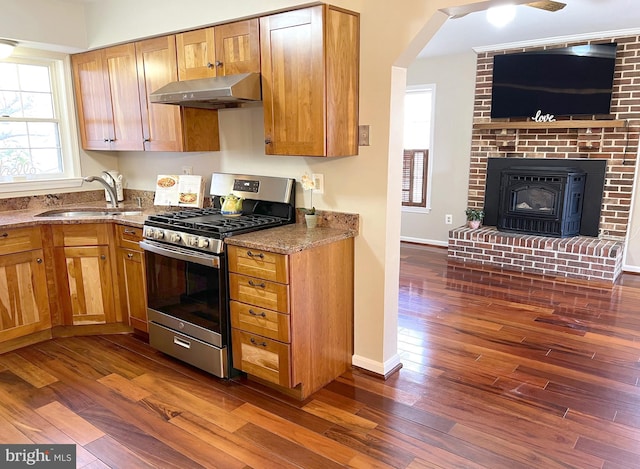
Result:
<svg viewBox="0 0 640 469"><path fill-rule="evenodd" d="M289 315L231 301L231 327L290 342Z"/></svg>

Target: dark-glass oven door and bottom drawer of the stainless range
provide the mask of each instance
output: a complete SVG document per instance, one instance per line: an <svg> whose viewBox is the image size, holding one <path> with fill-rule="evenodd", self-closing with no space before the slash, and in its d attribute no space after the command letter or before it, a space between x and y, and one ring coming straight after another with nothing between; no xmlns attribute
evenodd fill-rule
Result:
<svg viewBox="0 0 640 469"><path fill-rule="evenodd" d="M147 269L152 347L216 376L228 377L225 258L140 242Z"/></svg>

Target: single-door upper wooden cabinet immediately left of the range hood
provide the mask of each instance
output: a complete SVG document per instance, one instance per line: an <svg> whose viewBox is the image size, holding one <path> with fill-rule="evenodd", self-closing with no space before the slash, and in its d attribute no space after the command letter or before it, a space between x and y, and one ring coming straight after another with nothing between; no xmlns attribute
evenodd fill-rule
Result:
<svg viewBox="0 0 640 469"><path fill-rule="evenodd" d="M218 111L151 103L149 95L178 80L175 35L135 44L144 149L218 151Z"/></svg>

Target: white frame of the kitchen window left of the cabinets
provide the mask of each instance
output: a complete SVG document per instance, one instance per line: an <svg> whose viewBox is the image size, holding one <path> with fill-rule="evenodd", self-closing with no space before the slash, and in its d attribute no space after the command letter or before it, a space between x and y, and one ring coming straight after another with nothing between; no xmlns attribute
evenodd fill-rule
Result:
<svg viewBox="0 0 640 469"><path fill-rule="evenodd" d="M58 52L19 47L14 50L11 57L2 61L46 65L49 67L52 92L54 94L54 115L58 120L60 132L64 173L51 179L24 180L24 178L16 177L13 181L0 182L0 197L80 187L82 185L80 150L73 100L70 56Z"/></svg>

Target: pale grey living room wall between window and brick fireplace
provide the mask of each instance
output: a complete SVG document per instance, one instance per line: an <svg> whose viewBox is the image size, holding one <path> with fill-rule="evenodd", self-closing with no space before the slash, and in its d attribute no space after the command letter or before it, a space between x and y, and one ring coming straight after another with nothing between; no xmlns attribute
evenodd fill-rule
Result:
<svg viewBox="0 0 640 469"><path fill-rule="evenodd" d="M446 246L449 230L466 223L475 74L473 51L416 60L407 70L407 85L434 83L436 93L431 210L402 213L403 240Z"/></svg>

